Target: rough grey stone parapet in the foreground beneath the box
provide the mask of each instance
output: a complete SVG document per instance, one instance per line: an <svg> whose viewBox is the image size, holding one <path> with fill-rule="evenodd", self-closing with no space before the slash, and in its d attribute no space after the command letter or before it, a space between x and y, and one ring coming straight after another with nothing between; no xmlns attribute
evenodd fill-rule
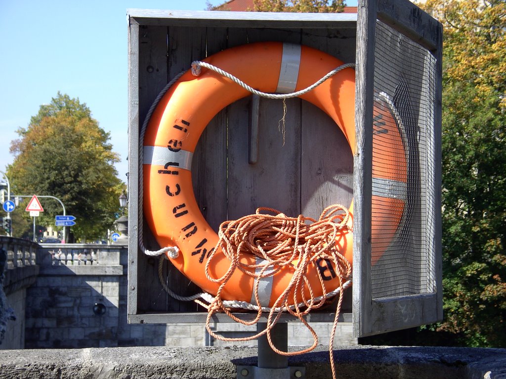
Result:
<svg viewBox="0 0 506 379"><path fill-rule="evenodd" d="M236 379L237 365L256 365L254 347L132 347L0 351L0 379ZM341 347L339 379L478 379L506 375L506 349ZM326 347L293 356L306 379L331 377ZM267 379L267 378L266 378Z"/></svg>

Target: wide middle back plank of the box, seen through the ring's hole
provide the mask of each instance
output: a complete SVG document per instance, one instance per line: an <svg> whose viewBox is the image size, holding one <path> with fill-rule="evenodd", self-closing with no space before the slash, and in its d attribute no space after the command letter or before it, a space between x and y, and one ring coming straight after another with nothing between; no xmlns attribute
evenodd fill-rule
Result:
<svg viewBox="0 0 506 379"><path fill-rule="evenodd" d="M261 99L259 156L255 165L248 163L247 156L248 101L237 102L236 107L229 109L228 218L237 219L255 213L258 207L298 215L300 100L286 101L288 112L283 137L282 130L278 129L278 121L283 117L282 102Z"/></svg>

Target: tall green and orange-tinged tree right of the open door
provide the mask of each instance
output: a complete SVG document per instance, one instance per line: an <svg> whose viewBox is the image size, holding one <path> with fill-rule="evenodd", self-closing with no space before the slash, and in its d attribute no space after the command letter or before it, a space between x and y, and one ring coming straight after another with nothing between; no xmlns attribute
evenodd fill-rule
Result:
<svg viewBox="0 0 506 379"><path fill-rule="evenodd" d="M506 347L506 3L428 0L444 26L443 288L433 327Z"/></svg>

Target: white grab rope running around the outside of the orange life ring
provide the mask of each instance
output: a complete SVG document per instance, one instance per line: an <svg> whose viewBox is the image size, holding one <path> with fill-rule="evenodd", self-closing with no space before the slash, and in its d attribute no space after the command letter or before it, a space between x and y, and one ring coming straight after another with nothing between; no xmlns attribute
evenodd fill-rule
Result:
<svg viewBox="0 0 506 379"><path fill-rule="evenodd" d="M346 63L344 65L336 67L335 69L333 69L332 71L327 73L320 80L316 81L315 83L313 83L309 87L306 87L306 88L301 89L297 92L291 92L291 93L267 93L267 92L258 91L255 88L252 88L251 86L247 85L242 80L235 77L234 75L232 75L226 71L223 71L222 69L220 69L216 66L213 66L211 64L208 64L206 62L201 62L201 61L192 62L192 64L191 64L192 74L194 76L199 76L201 73L201 67L205 67L209 70L215 71L215 72L219 73L220 75L223 75L223 76L231 79L232 81L234 81L235 83L237 83L238 85L243 87L244 89L248 90L251 93L257 94L260 97L267 98L267 99L290 99L290 98L296 98L298 96L301 96L304 93L311 91L312 89L316 88L321 83L323 83L325 80L329 79L330 77L337 74L341 70L344 70L345 68L354 68L355 64L354 63ZM140 162L140 164L139 164L139 229L138 229L139 247L140 247L141 251L146 255L159 256L159 255L162 255L162 254L165 254L166 252L168 252L168 255L173 259L177 258L179 255L179 249L176 246L166 246L166 247L163 247L163 248L161 248L159 250L155 250L155 251L148 250L144 247L144 240L143 240L143 194L144 194L144 185L143 185L143 181L144 181L143 155L144 155L144 153L143 153L143 150L144 149L143 148L144 148L144 135L146 133L146 128L148 126L151 115L153 114L156 106L160 102L160 100L163 97L163 95L165 94L165 92L167 92L167 90L170 87L172 87L174 85L174 83L176 83L176 81L178 81L179 78L184 73L185 73L185 71L180 72L169 83L167 83L167 85L165 85L165 87L160 91L160 93L158 94L158 96L154 100L153 104L149 108L149 111L146 114L146 118L144 119L144 122L142 124L141 130L139 133L139 162ZM180 301L193 301L195 299L201 298L202 300L204 300L205 302L207 302L209 304L212 303L214 296L211 294L207 294L207 293L202 292L199 294L185 297L185 296L180 296L180 295L174 293L170 288L168 288L163 280L163 276L161 273L163 259L164 259L163 257L160 257L160 263L158 265L158 277L160 279L160 283L161 283L163 289L167 292L167 294L169 296L171 296L174 299L180 300ZM343 285L343 290L348 288L351 285L351 283L352 283L352 280L346 281ZM325 296L320 296L320 297L316 298L315 301L320 301L323 299L331 298L331 297L337 295L339 292L340 292L340 289L337 288L334 291L329 292ZM225 300L225 301L223 301L223 305L227 308L243 308L243 309L255 310L255 311L259 310L259 306L253 305L253 304L250 304L250 303L247 303L244 301ZM302 306L304 306L304 303L298 304L297 306L302 307ZM296 305L292 305L289 308L293 309L295 307L296 307ZM271 310L271 308L267 308L267 307L261 307L261 308L263 311L270 311ZM274 311L280 312L280 311L285 311L285 310L286 310L286 308L276 308Z"/></svg>

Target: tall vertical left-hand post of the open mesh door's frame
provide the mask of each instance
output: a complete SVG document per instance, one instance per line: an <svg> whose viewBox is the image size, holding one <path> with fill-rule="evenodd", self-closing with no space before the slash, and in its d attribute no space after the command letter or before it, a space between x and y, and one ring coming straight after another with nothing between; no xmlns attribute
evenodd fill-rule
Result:
<svg viewBox="0 0 506 379"><path fill-rule="evenodd" d="M357 20L356 150L354 156L353 327L363 336L370 327L372 104L374 88L374 1L360 2Z"/></svg>

